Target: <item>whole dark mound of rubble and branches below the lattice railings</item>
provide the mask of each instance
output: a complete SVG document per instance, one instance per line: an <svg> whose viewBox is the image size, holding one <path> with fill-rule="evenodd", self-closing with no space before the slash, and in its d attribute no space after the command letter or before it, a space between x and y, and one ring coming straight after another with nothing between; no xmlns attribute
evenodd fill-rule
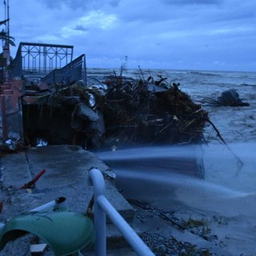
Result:
<svg viewBox="0 0 256 256"><path fill-rule="evenodd" d="M112 149L202 140L208 114L179 84L116 74L98 82L58 85L24 97L28 144L40 133L49 144Z"/></svg>

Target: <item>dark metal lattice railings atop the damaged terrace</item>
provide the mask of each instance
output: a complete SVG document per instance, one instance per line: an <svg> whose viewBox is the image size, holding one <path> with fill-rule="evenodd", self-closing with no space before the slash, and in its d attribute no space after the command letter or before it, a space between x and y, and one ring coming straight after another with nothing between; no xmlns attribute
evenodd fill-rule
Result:
<svg viewBox="0 0 256 256"><path fill-rule="evenodd" d="M86 55L73 59L73 46L21 42L10 78L39 80L46 84L82 82L86 85Z"/></svg>

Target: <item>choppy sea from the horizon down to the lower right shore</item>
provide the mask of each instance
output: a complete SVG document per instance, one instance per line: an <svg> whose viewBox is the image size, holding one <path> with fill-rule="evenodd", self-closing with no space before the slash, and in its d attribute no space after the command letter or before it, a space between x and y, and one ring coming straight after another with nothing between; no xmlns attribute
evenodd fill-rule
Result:
<svg viewBox="0 0 256 256"><path fill-rule="evenodd" d="M110 74L118 75L120 70L88 70L89 77L104 78ZM186 162L194 153L186 145L98 153L106 163L113 158L130 162L131 167L122 169L111 162L118 189L126 198L149 202L158 209L177 214L178 218L205 219L211 234L217 238L206 245L214 255L255 255L256 72L138 68L122 70L122 75L145 80L151 76L155 81L162 77L169 84L179 83L180 90L208 111L218 132L211 125L204 130L206 143L202 145L201 156L205 177L202 180L178 176L168 169L172 162L166 164L164 158L179 157ZM90 82L97 83L94 79ZM214 106L204 100L217 100L223 91L230 89L236 90L242 102L250 106ZM225 143L220 142L218 134ZM139 161L145 162L146 158L158 158L158 167L150 165L150 161L142 166ZM154 232L163 233L163 230ZM184 242L196 243L190 238L184 238L184 233L178 236Z"/></svg>

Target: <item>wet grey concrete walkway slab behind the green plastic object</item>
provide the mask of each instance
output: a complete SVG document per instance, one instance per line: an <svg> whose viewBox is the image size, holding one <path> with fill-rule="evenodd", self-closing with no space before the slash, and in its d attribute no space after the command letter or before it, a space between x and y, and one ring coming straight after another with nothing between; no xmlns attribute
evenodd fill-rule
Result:
<svg viewBox="0 0 256 256"><path fill-rule="evenodd" d="M70 210L85 213L93 195L93 187L88 182L88 171L94 167L104 174L109 169L94 154L79 146L31 147L26 152L3 155L0 164L0 201L3 202L0 222L58 197L66 197ZM32 191L18 190L43 169L46 173L38 179ZM115 189L110 178L105 180L106 198L130 222L134 216L134 208ZM112 238L117 236L116 230L111 228L109 233Z"/></svg>

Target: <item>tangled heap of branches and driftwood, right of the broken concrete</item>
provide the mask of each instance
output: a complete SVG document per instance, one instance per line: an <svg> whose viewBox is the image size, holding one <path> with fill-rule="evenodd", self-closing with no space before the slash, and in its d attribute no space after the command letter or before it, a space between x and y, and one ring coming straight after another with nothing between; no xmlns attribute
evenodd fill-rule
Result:
<svg viewBox="0 0 256 256"><path fill-rule="evenodd" d="M208 116L190 96L164 82L111 76L104 94L95 94L106 126L106 144L115 146L196 143Z"/></svg>

